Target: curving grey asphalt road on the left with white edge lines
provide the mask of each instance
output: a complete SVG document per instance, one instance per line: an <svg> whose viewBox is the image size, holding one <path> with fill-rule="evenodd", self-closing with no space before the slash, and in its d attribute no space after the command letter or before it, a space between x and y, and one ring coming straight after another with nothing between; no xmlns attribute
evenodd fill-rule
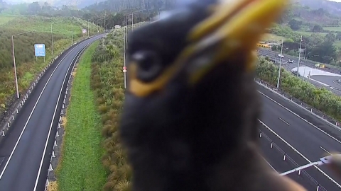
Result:
<svg viewBox="0 0 341 191"><path fill-rule="evenodd" d="M1 143L0 190L44 190L67 75L77 54L103 36L72 46L40 79Z"/></svg>

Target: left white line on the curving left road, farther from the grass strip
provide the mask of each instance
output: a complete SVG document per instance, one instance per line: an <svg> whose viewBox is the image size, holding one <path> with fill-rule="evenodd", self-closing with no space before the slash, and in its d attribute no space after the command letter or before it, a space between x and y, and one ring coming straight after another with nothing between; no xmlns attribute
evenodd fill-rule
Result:
<svg viewBox="0 0 341 191"><path fill-rule="evenodd" d="M79 45L73 47L72 50L74 50L76 47L78 47L78 46L80 46L80 45L82 45L82 42L81 42ZM72 52L72 50L70 50L70 52ZM38 97L38 99L37 99L37 101L36 101L36 104L34 104L33 109L32 109L32 111L31 111L30 115L28 116L27 121L26 121L25 125L23 126L23 130L21 131L21 134L19 135L19 138L18 138L18 140L16 141L16 144L14 145L14 148L13 148L13 150L11 151L11 154L9 155L9 159L6 161L6 164L5 164L5 166L4 166L4 169L1 171L0 180L1 180L2 176L4 175L4 172L5 172L6 168L7 168L7 166L9 165L9 161L11 161L11 158L12 158L12 156L13 156L14 151L16 151L16 146L18 146L18 143L19 143L21 137L23 136L23 132L25 131L25 129L26 129L27 125L28 125L28 122L31 120L31 116L32 116L34 110L36 109L36 106L38 105L38 102L39 102L39 100L40 100L41 95L42 95L43 92L45 91L46 86L48 86L48 82L50 81L51 77L52 77L53 74L55 73L55 70L58 69L58 66L60 65L60 63L63 62L63 60L67 57L68 54L70 54L70 52L67 52L67 54L65 54L65 57L63 57L63 59L60 60L60 62L57 64L57 66L55 66L55 69L52 71L50 77L48 78L48 81L46 81L45 86L43 87L43 90L40 92L40 95L39 95L39 97Z"/></svg>

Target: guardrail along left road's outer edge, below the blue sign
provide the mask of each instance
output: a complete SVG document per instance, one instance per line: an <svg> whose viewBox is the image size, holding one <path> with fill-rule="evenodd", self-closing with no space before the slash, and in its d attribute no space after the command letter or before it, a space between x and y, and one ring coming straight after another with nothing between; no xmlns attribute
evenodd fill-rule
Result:
<svg viewBox="0 0 341 191"><path fill-rule="evenodd" d="M18 115L18 113L21 111L21 109L23 108L23 105L26 103L26 100L28 99L28 97L31 95L31 93L33 92L33 89L36 87L37 83L40 81L40 79L43 77L43 75L45 74L45 72L50 68L50 66L53 64L53 62L55 62L56 59L58 59L58 57L60 57L60 55L62 55L65 51L67 51L70 47L87 40L88 38L79 40L77 42L75 42L73 45L68 46L67 48L65 48L65 50L63 50L62 52L60 52L60 54L57 55L57 57L53 58L47 66L45 66L45 68L43 69L43 71L40 72L40 74L38 75L38 77L31 83L31 86L28 88L28 91L26 91L26 93L23 94L23 97L21 98L20 101L18 101L18 103L16 103L16 105L14 107L11 108L10 110L10 115L8 117L7 120L4 120L4 125L1 127L0 129L0 143L1 141L4 139L4 137L6 136L7 132L9 132L9 129L11 127L11 125L13 124L14 120L16 120L16 116Z"/></svg>

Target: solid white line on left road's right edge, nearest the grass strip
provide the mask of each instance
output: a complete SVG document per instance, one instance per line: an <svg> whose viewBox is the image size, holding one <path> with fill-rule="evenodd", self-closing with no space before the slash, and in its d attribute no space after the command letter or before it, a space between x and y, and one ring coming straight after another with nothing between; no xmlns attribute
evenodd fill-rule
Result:
<svg viewBox="0 0 341 191"><path fill-rule="evenodd" d="M87 43L87 45L90 45L91 43L92 42L89 42L89 43ZM85 45L85 47L87 47L87 45ZM80 50L80 52L82 52L82 50ZM71 64L67 68L67 71L66 71L66 74L64 76L64 80L63 80L62 86L60 87L60 92L59 92L57 104L55 105L55 111L53 112L53 117L52 117L52 120L51 120L51 123L50 123L50 129L48 130L48 137L46 138L46 141L45 141L45 147L44 147L44 151L43 151L43 156L41 157L40 166L39 166L39 170L38 170L38 175L37 175L37 178L36 178L36 184L34 185L33 191L36 191L37 186L38 186L39 175L40 175L40 172L41 172L41 168L43 166L43 161L44 161L44 156L45 156L45 153L46 153L46 149L48 147L48 139L50 139L50 133L51 133L51 130L52 130L52 127L53 127L53 121L55 120L55 112L57 112L57 109L58 109L58 104L59 104L60 96L62 95L63 86L64 86L64 83L65 83L65 80L66 80L66 77L67 77L67 73L69 72L70 67L72 66L72 62L74 62L76 58L77 57L74 57L72 59Z"/></svg>

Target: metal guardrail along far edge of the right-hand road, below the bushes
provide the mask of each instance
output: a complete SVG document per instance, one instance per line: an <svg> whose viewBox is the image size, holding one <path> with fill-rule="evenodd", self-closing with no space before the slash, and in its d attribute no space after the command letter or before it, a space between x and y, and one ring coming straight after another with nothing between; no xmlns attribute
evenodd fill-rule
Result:
<svg viewBox="0 0 341 191"><path fill-rule="evenodd" d="M278 96L281 96L282 98L291 101L291 103L295 103L295 105L297 105L298 107L303 108L304 110L310 112L312 115L315 115L315 117L318 117L320 120L327 122L330 126L335 127L335 129L341 131L340 122L328 116L324 112L321 112L320 110L311 107L310 105L304 103L303 101L294 98L290 94L281 91L281 89L277 89L275 86L272 86L270 83L267 83L266 81L262 81L261 79L254 79L254 81L256 81L256 83L260 84L261 86L268 88L270 91L277 93Z"/></svg>

